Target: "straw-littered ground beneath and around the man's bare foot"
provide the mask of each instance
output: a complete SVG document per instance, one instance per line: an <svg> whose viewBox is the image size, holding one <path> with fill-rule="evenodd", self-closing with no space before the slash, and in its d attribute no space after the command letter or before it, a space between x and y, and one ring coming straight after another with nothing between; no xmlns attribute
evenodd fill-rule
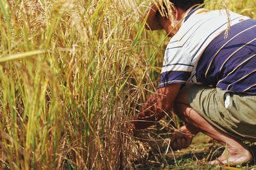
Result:
<svg viewBox="0 0 256 170"><path fill-rule="evenodd" d="M157 145L158 151L156 151L156 146L152 144L154 142L145 142L144 144L148 145L148 143L152 146L153 151L149 151L148 157L145 160L136 163L136 169L256 169L256 158L246 165L237 165L236 168L207 164L207 161L218 158L225 148L203 133L199 133L195 136L190 147L175 152L169 150L167 154L164 152L157 153L161 150L159 143ZM162 147L166 148L166 143L165 145L162 145ZM256 143L246 141L245 143L246 146L250 148L251 152L253 152L253 155L256 155Z"/></svg>

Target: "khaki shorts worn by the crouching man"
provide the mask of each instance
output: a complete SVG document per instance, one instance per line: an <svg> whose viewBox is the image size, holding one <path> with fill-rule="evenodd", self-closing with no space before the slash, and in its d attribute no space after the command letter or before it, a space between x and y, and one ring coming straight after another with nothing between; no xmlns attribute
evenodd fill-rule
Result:
<svg viewBox="0 0 256 170"><path fill-rule="evenodd" d="M187 99L190 107L216 128L235 138L256 141L256 96L194 84Z"/></svg>

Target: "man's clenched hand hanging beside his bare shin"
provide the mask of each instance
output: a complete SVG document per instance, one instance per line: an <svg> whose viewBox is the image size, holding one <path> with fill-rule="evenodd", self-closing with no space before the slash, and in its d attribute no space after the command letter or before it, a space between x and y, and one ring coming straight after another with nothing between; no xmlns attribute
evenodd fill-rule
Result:
<svg viewBox="0 0 256 170"><path fill-rule="evenodd" d="M189 125L184 125L178 130L176 130L170 138L170 146L173 151L181 150L182 148L187 148L191 145L192 139L196 133L192 133L189 129Z"/></svg>

